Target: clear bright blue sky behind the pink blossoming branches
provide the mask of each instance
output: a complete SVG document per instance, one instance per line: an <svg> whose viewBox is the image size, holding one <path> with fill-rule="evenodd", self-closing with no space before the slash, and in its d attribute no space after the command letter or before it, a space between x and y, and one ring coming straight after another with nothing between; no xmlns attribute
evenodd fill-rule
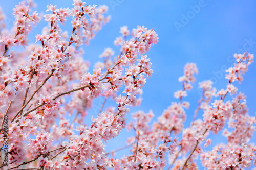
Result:
<svg viewBox="0 0 256 170"><path fill-rule="evenodd" d="M12 8L19 1L0 1L0 5L9 18L9 25L13 22ZM35 1L36 10L45 13L46 5L57 4L57 7L72 8L72 1ZM191 7L199 5L200 1L129 1L129 0L101 0L86 1L93 5L108 5L111 21L103 27L96 38L85 47L84 58L91 61L93 66L99 60L98 56L105 47L112 47L118 54L119 49L114 47L113 41L120 36L121 26L128 26L131 30L137 25L154 30L159 36L159 43L153 46L147 53L153 63L153 76L147 80L144 88L143 102L140 107L131 108L131 113L144 110L146 113L152 109L156 117L160 116L171 102L177 101L173 93L181 89L178 77L183 75L183 67L187 62L197 64L199 74L196 75L197 82L194 89L188 92L185 98L191 106L187 111L187 119L193 118L197 101L200 98L198 92L198 82L211 79L217 89L225 88L227 80L222 67L233 65L233 54L248 51L256 54L256 12L255 1L225 0L214 1L205 0L199 12L194 13ZM111 3L116 3L111 6ZM188 21L182 22L183 15L189 15ZM183 24L184 27L177 29L175 22ZM41 32L41 28L46 26L46 22L41 21L36 29L30 34L31 41L34 36ZM71 26L67 23L64 30L70 32ZM248 43L252 41L252 43ZM218 73L218 74L217 74ZM247 95L247 106L249 114L255 116L256 112L256 63L249 66L249 71L244 76L241 85L235 83L239 91ZM96 101L99 103L99 101ZM112 102L107 102L107 105ZM115 105L114 105L115 106ZM95 111L91 111L96 116ZM127 118L131 117L127 115ZM186 122L185 127L189 125ZM127 134L124 130L117 140L111 140L108 144L108 151L117 147L122 147L125 138L133 133ZM212 135L214 144L225 142L225 138L219 135ZM256 141L255 135L252 142ZM122 156L127 151L119 152L117 156ZM198 160L198 162L200 162Z"/></svg>

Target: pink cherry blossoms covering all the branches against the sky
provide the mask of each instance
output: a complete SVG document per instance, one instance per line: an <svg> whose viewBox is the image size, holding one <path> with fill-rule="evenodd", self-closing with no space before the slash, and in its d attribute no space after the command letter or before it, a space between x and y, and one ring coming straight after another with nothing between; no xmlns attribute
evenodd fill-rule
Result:
<svg viewBox="0 0 256 170"><path fill-rule="evenodd" d="M190 126L184 126L190 106L184 99L196 82L195 63L187 63L178 79L182 84L174 92L178 101L155 122L152 111L137 111L128 122L129 108L140 105L142 89L153 74L145 53L158 43L158 35L144 26L132 30L122 26L121 36L113 42L120 54L105 48L89 72L90 62L83 59L82 47L109 22L110 16L105 16L108 7L82 0L74 0L72 5L69 9L50 4L47 14L40 15L33 11L33 1L20 2L13 8L13 28L5 27L0 9L2 149L4 117L9 118L8 164L1 162L0 168L199 169L198 158L207 169L243 169L256 164L256 147L250 142L256 118L248 114L246 96L233 83L242 82L253 62L252 54L234 55L237 63L226 70L224 89L217 90L210 80L199 83L202 96ZM61 26L68 17L70 32ZM47 26L30 43L28 35L41 20ZM96 98L104 102L88 125L88 111ZM104 108L106 100L113 100L114 106ZM120 149L108 153L105 143L125 128L134 131L126 139L130 154L115 158ZM227 142L204 150L211 145L209 135L220 132Z"/></svg>

